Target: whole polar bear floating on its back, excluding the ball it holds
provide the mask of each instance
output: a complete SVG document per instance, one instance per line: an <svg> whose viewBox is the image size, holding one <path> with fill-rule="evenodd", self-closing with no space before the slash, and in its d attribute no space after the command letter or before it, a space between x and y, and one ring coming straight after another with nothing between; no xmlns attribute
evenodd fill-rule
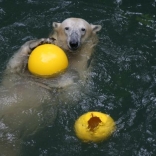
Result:
<svg viewBox="0 0 156 156"><path fill-rule="evenodd" d="M18 155L24 137L53 122L60 99L68 101L78 97L80 86L88 78L87 64L100 29L100 25L89 24L81 18L53 22L49 38L28 41L11 57L0 88L2 155ZM27 68L32 50L45 43L61 47L69 60L66 72L55 78L36 77Z"/></svg>

